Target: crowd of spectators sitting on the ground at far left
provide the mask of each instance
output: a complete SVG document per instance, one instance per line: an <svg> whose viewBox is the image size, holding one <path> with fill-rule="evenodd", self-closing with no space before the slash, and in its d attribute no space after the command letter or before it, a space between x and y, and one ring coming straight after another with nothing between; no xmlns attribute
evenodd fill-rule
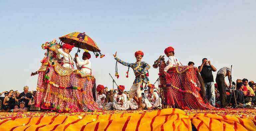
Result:
<svg viewBox="0 0 256 131"><path fill-rule="evenodd" d="M4 91L0 93L0 111L2 112L26 112L39 111L35 107L36 91L29 91L28 86L24 86L24 92Z"/></svg>

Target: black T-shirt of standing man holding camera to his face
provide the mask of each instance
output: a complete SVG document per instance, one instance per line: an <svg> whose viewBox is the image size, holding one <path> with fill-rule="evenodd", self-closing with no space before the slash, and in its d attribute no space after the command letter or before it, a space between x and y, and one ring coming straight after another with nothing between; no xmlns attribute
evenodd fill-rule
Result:
<svg viewBox="0 0 256 131"><path fill-rule="evenodd" d="M200 66L198 66L200 68ZM203 68L200 72L201 77L203 78L204 83L214 82L213 75L212 75L212 68L210 65L203 65Z"/></svg>

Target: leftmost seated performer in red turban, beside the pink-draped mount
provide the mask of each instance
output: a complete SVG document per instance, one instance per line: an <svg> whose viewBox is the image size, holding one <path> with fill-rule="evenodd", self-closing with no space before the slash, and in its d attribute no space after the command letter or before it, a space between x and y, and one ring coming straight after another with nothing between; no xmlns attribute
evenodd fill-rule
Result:
<svg viewBox="0 0 256 131"><path fill-rule="evenodd" d="M105 87L103 85L98 85L97 90L97 97L96 97L96 103L100 109L103 110L109 110L111 109L112 103L107 103L106 95L103 94Z"/></svg>

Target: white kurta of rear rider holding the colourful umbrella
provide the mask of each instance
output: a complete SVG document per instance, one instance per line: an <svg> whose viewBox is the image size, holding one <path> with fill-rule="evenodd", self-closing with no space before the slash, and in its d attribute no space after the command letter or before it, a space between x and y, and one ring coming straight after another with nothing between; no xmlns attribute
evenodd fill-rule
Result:
<svg viewBox="0 0 256 131"><path fill-rule="evenodd" d="M80 61L78 57L76 59L76 68L86 74L91 74L91 62L89 59Z"/></svg>

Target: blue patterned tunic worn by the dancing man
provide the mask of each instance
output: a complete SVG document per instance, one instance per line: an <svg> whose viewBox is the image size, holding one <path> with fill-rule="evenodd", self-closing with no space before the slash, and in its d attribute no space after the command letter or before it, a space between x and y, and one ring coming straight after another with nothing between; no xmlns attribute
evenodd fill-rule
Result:
<svg viewBox="0 0 256 131"><path fill-rule="evenodd" d="M135 80L133 82L133 85L142 83L143 80L145 83L149 83L149 78L146 76L146 73L150 68L149 64L147 64L146 62L127 63L117 57L115 58L115 60L117 60L118 63L131 67L133 69L133 72L135 74ZM144 74L145 77L143 78L140 74Z"/></svg>

